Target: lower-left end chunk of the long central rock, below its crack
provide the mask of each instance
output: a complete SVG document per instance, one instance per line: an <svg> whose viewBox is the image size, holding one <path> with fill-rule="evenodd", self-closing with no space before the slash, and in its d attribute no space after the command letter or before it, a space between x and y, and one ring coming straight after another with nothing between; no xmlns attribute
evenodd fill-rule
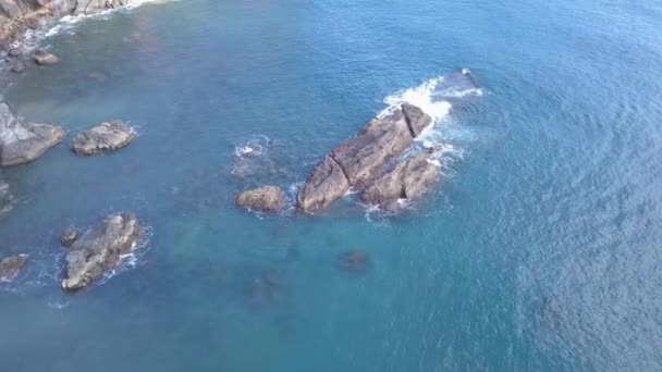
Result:
<svg viewBox="0 0 662 372"><path fill-rule="evenodd" d="M330 156L324 157L308 176L296 196L299 209L314 211L342 198L350 189L350 181L340 164Z"/></svg>

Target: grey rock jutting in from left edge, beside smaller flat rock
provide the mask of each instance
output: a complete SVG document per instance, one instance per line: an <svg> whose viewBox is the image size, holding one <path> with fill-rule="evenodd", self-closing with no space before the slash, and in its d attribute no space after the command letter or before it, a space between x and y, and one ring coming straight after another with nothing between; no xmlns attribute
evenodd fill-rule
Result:
<svg viewBox="0 0 662 372"><path fill-rule="evenodd" d="M30 162L62 138L62 128L26 122L14 116L7 104L0 103L0 166Z"/></svg>

